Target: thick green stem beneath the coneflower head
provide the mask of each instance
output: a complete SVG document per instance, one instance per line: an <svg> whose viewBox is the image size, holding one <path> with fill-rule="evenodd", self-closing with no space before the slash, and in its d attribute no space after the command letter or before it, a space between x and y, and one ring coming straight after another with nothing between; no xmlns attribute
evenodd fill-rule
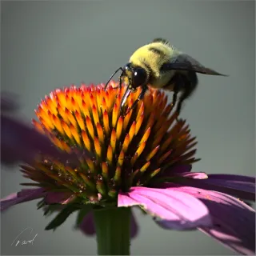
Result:
<svg viewBox="0 0 256 256"><path fill-rule="evenodd" d="M94 210L98 255L130 255L130 208Z"/></svg>

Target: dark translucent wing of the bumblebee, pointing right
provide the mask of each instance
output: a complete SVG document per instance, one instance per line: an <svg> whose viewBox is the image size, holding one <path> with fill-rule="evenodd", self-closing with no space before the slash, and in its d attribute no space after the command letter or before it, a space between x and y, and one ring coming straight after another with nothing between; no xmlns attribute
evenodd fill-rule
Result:
<svg viewBox="0 0 256 256"><path fill-rule="evenodd" d="M220 74L215 70L211 70L206 66L202 66L201 63L199 63L197 60L187 54L178 54L177 56L170 58L169 62L166 62L162 65L161 70L187 70L201 74L226 76L226 74Z"/></svg>

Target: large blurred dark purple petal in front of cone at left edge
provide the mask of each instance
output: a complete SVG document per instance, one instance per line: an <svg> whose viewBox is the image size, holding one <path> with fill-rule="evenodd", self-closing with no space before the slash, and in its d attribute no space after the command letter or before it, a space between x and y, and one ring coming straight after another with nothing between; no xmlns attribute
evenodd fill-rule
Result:
<svg viewBox="0 0 256 256"><path fill-rule="evenodd" d="M77 163L76 154L68 154L52 145L50 139L40 134L34 128L27 126L17 119L1 115L1 162L13 164L15 162L33 163L34 158L41 152L50 158L57 158L64 162ZM87 155L89 153L85 151Z"/></svg>

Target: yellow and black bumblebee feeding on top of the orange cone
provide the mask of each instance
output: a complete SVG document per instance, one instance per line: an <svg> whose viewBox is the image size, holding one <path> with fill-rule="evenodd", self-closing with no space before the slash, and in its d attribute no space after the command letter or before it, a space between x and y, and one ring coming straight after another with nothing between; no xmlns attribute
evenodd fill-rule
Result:
<svg viewBox="0 0 256 256"><path fill-rule="evenodd" d="M119 67L114 74L119 70L122 73L119 77L119 86L115 88L121 88L122 82L127 85L126 92L122 97L121 108L125 105L130 92L141 86L142 92L130 108L130 110L134 109L138 101L146 94L148 86L151 86L155 89L174 92L171 104L175 106L178 100L176 108L178 115L182 110L182 103L190 97L198 85L197 73L226 76L202 66L194 58L176 50L174 46L170 45L170 42L163 38L155 38L153 42L135 50L134 54L130 56L129 63L124 67ZM106 82L105 90L114 74ZM180 96L177 99L178 93Z"/></svg>

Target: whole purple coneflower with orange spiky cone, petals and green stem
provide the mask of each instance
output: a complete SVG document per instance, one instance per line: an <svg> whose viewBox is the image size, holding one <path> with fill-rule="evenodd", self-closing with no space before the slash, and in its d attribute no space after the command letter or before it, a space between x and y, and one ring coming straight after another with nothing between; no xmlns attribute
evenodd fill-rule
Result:
<svg viewBox="0 0 256 256"><path fill-rule="evenodd" d="M239 254L254 254L255 211L242 200L255 200L255 178L191 172L197 142L185 121L175 121L166 94L150 89L124 117L125 87L112 86L118 84L107 91L71 86L42 100L34 126L79 163L41 154L22 166L34 181L22 185L39 188L11 194L1 209L42 198L45 214L56 205L59 211L46 230L77 211L77 225L97 234L98 254L130 254L130 234L138 231L132 206L165 229L199 229ZM126 107L139 93L130 94Z"/></svg>

